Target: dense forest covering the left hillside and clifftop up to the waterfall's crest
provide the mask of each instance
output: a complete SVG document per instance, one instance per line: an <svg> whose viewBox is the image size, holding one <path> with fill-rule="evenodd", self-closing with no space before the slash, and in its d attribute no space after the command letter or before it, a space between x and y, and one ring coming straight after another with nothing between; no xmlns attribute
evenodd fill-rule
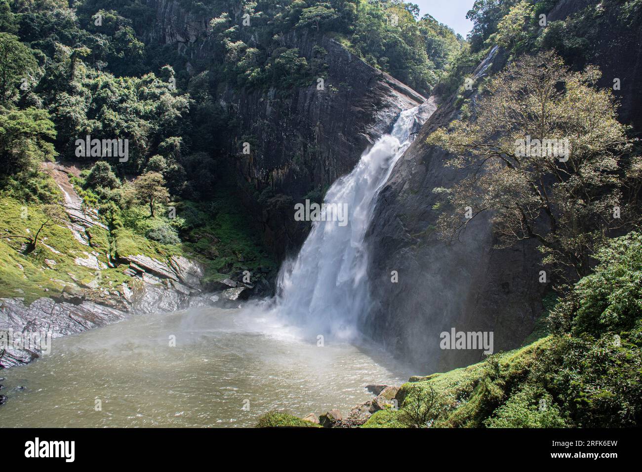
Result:
<svg viewBox="0 0 642 472"><path fill-rule="evenodd" d="M196 254L209 261L208 277L214 278L275 267L272 256L257 249L254 223L234 207L234 156L226 145L238 123L218 103L221 86L288 91L316 85L315 78L324 76L325 51L317 48L308 61L281 40L289 31L311 29L428 93L464 43L428 15L418 19L416 6L397 1L308 6L300 0L181 0L189 12L211 17L214 53L187 66L175 48L146 41L155 21L148 3L103 5L1 1L4 202L15 209L13 216L28 202L35 220L45 218L41 205L61 196L41 163L72 162L81 170L74 186L108 227L96 236L103 249ZM243 28L246 14L251 29ZM87 148L79 159L76 140L87 136L127 139L127 158L100 159L100 152ZM159 205L175 208L176 217L155 211ZM25 226L21 220L11 225L16 223Z"/></svg>

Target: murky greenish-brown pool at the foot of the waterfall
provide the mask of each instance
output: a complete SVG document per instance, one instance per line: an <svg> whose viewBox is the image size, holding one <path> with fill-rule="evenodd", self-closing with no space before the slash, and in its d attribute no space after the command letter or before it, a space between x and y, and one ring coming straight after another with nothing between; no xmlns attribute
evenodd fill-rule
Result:
<svg viewBox="0 0 642 472"><path fill-rule="evenodd" d="M254 426L269 410L345 413L372 398L368 383L408 379L389 362L355 345L317 347L239 310L141 315L55 339L48 356L0 371L0 426Z"/></svg>

